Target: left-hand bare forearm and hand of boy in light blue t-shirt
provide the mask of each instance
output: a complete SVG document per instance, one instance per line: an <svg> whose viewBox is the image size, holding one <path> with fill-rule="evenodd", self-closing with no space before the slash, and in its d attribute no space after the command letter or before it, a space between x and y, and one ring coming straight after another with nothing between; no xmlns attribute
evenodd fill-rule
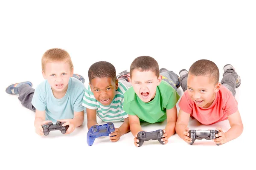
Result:
<svg viewBox="0 0 256 170"><path fill-rule="evenodd" d="M42 125L45 125L48 122L52 122L52 121L45 120L45 111L38 111L37 109L35 109L35 121L34 121L35 133L37 133L40 136L44 135L43 133L44 130L42 128Z"/></svg>

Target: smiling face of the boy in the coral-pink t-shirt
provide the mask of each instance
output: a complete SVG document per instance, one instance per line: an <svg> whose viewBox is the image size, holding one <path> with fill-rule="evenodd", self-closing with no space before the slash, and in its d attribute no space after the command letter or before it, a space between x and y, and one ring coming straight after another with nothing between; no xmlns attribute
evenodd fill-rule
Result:
<svg viewBox="0 0 256 170"><path fill-rule="evenodd" d="M215 94L219 91L221 84L216 85L210 77L188 75L188 94L198 107L208 108L215 99Z"/></svg>

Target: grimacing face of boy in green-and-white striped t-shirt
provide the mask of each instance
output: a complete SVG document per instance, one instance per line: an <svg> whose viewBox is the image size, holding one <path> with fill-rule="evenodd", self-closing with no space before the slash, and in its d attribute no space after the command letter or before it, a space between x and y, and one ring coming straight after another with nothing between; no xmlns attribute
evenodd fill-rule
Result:
<svg viewBox="0 0 256 170"><path fill-rule="evenodd" d="M118 80L113 82L110 77L94 78L89 83L95 99L102 105L110 105L116 96Z"/></svg>

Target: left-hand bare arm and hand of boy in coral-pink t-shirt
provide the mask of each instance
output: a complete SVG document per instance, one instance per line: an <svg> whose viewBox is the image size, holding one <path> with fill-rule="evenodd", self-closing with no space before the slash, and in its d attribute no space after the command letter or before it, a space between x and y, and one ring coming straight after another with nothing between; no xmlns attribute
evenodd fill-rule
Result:
<svg viewBox="0 0 256 170"><path fill-rule="evenodd" d="M192 142L192 139L189 137L189 128L187 127L189 124L189 117L189 113L186 113L180 109L175 126L175 130L178 136L180 136L180 138L187 143Z"/></svg>

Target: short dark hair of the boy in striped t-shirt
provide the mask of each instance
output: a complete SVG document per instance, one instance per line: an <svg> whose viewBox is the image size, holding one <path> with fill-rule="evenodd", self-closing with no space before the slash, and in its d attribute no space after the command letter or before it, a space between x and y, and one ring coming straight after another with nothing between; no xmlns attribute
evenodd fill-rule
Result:
<svg viewBox="0 0 256 170"><path fill-rule="evenodd" d="M94 78L111 78L116 82L116 68L110 62L95 62L88 70L88 78L90 83Z"/></svg>

